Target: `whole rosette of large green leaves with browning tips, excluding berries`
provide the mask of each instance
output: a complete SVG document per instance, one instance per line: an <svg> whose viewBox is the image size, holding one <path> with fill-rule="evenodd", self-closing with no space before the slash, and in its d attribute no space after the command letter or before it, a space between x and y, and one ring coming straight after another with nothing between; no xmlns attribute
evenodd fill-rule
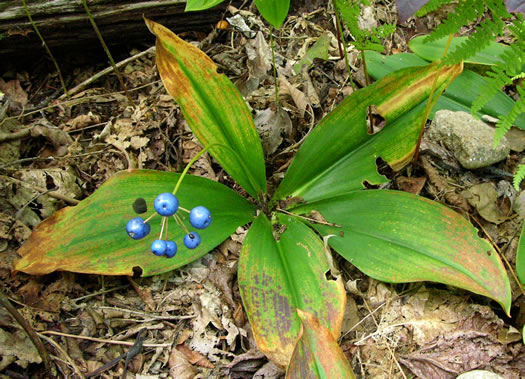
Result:
<svg viewBox="0 0 525 379"><path fill-rule="evenodd" d="M195 136L251 200L186 175L177 192L180 204L206 207L213 223L196 249L181 246L167 259L149 252L155 237L137 243L123 228L138 196L150 203L180 175L122 172L39 225L19 250L17 270L131 275L140 268L143 276L155 275L198 259L251 223L238 269L243 304L259 348L288 366L290 376L352 375L336 343L346 294L329 247L378 280L457 286L496 300L509 313L504 267L467 220L428 199L364 185L387 182L377 171L378 158L394 169L410 161L432 85L440 93L460 74L461 64L399 70L348 96L312 130L271 195L261 141L235 86L199 49L160 24L146 23L157 36L157 66L166 89ZM386 121L373 135L366 128L371 105ZM160 221L151 223L159 227ZM174 233L182 238L183 231Z"/></svg>

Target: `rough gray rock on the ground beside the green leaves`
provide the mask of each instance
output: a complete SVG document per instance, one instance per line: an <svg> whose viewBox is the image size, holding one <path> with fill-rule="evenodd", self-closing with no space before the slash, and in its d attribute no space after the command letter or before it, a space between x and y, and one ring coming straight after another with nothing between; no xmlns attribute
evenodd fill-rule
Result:
<svg viewBox="0 0 525 379"><path fill-rule="evenodd" d="M487 167L505 159L510 146L505 137L496 147L495 129L466 112L436 112L427 136L443 143L466 169Z"/></svg>

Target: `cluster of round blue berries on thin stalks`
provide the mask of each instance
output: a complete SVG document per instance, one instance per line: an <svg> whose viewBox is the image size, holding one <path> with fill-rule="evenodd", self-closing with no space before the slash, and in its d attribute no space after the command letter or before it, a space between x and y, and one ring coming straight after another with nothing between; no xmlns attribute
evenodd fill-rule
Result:
<svg viewBox="0 0 525 379"><path fill-rule="evenodd" d="M191 211L179 207L179 199L169 192L161 193L155 199L153 203L156 213L162 216L161 230L159 239L156 239L151 244L151 252L157 256L165 255L168 258L173 258L177 253L177 244L174 241L168 241L163 239L163 233L165 236L168 234L168 218L173 216L175 222L184 229L186 235L184 236L184 245L188 249L195 249L201 243L201 237L199 233L195 231L189 231L181 220L181 217L177 215L177 211L181 209L184 212L189 213L190 224L196 229L205 229L211 223L211 212L203 206L193 208ZM147 210L146 202L144 199L139 198L133 204L133 209L137 213L144 213ZM151 231L151 226L148 221L156 214L154 213L146 220L142 217L135 217L128 221L126 225L126 231L128 235L139 240L146 237Z"/></svg>

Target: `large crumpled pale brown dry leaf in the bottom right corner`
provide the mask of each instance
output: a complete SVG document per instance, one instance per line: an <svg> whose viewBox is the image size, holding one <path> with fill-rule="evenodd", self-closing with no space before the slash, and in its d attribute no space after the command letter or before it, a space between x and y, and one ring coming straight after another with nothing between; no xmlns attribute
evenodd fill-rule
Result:
<svg viewBox="0 0 525 379"><path fill-rule="evenodd" d="M455 378L475 368L492 369L505 377L525 375L525 347L501 342L511 331L488 306L468 303L450 291L425 289L408 298L394 298L377 314L379 327L363 323L358 332L368 377L388 377L392 350L408 347L402 362L422 378ZM409 351L410 351L409 350ZM406 351L406 350L405 350Z"/></svg>

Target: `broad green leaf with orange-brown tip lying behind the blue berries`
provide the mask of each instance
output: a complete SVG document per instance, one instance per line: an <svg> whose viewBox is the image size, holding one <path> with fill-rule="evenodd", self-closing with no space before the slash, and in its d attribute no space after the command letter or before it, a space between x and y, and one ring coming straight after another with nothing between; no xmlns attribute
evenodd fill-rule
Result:
<svg viewBox="0 0 525 379"><path fill-rule="evenodd" d="M207 207L213 217L211 225L199 234L201 245L189 250L183 244L185 232L169 222L168 237L178 246L174 258L157 257L150 251L151 242L159 237L161 217L151 222L151 233L142 240L133 240L126 233L128 220L137 215L132 209L136 198L154 212L153 200L162 192L171 192L179 174L136 170L123 171L75 207L67 207L43 221L22 245L22 258L15 270L32 275L72 271L104 275L133 275L140 268L143 276L151 276L184 266L219 245L236 228L254 217L254 207L228 187L209 179L186 175L177 193L180 206L192 209ZM177 214L184 216L179 210ZM189 226L187 217L185 221Z"/></svg>

